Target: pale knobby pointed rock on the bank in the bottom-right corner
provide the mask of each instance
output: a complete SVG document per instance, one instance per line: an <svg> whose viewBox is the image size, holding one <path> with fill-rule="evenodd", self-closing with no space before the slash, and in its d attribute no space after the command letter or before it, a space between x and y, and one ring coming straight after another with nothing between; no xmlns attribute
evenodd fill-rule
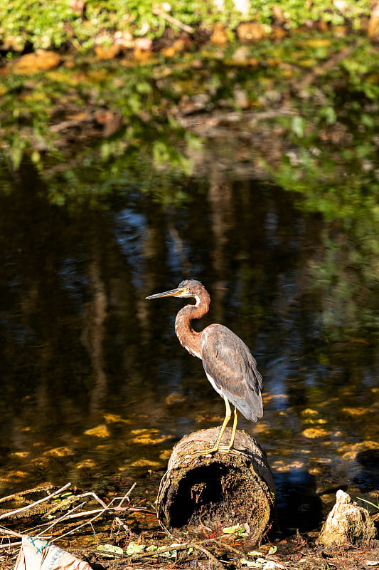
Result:
<svg viewBox="0 0 379 570"><path fill-rule="evenodd" d="M336 504L326 518L319 534L319 541L326 547L339 544L368 544L375 538L375 526L367 509L351 502L351 497L341 491L336 493Z"/></svg>

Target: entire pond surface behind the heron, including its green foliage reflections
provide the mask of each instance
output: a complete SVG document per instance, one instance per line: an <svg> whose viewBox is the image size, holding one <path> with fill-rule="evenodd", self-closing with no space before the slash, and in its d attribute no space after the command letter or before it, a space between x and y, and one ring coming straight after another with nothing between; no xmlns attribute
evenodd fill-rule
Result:
<svg viewBox="0 0 379 570"><path fill-rule="evenodd" d="M2 69L1 495L137 481L154 502L174 443L224 414L175 336L183 301L145 300L191 277L195 326L232 328L263 375L240 428L282 532L338 488L377 502L378 45L317 26Z"/></svg>

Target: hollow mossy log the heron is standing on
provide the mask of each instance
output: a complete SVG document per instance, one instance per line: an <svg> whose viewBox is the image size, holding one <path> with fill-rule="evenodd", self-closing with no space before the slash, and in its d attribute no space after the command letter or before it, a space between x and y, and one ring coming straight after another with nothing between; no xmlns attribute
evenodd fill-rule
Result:
<svg viewBox="0 0 379 570"><path fill-rule="evenodd" d="M171 454L157 498L158 517L172 534L220 534L235 524L262 539L272 519L274 480L260 444L237 431L233 450L193 455L214 445L220 427L183 437ZM225 430L221 445L228 445ZM248 526L247 526L248 525Z"/></svg>

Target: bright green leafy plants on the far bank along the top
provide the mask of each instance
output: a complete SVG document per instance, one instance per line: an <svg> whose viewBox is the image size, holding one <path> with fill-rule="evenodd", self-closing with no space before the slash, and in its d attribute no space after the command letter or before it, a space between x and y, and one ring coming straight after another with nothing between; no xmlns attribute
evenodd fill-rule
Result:
<svg viewBox="0 0 379 570"><path fill-rule="evenodd" d="M96 41L107 44L114 31L131 31L134 36L159 37L167 22L161 14L154 14L151 0L87 0L84 13L75 11L69 0L8 0L0 3L0 42L11 51L23 51L27 43L36 48L60 48L69 44L78 51L86 51ZM333 25L346 19L353 28L359 28L363 16L370 14L368 0L347 1L343 11L329 0L278 0L267 3L257 0L250 6L247 19L255 19L269 29L272 24L272 6L281 9L292 28L307 21L323 19ZM225 0L223 10L212 1L178 0L171 3L171 15L183 24L211 28L221 21L233 30L246 16L235 9L232 0ZM170 24L174 30L180 28Z"/></svg>

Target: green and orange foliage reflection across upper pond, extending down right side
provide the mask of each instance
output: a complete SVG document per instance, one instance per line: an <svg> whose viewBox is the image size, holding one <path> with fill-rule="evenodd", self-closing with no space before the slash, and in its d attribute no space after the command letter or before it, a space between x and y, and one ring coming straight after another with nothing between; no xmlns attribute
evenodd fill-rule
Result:
<svg viewBox="0 0 379 570"><path fill-rule="evenodd" d="M328 299L321 312L329 334L366 335L378 330L374 51L363 38L299 35L278 44L208 46L169 64L157 56L127 68L118 61L83 62L80 69L59 68L28 81L9 75L1 110L3 150L14 167L28 152L50 201L74 207L105 207L110 195L132 190L163 207L184 204L189 193L183 182L208 172L214 162L226 164L232 178L235 164L260 168L297 192L299 207L329 220L324 255L309 271L311 287L321 287ZM336 54L341 57L333 62ZM241 101L245 112L238 109ZM59 138L50 128L102 109L121 118L110 137L102 137L93 120L78 120ZM225 115L225 121L228 113L240 118L224 130L210 129L205 142L201 129L186 120L195 115L201 123L210 113ZM246 126L248 113L255 123ZM231 125L233 135L225 135Z"/></svg>

